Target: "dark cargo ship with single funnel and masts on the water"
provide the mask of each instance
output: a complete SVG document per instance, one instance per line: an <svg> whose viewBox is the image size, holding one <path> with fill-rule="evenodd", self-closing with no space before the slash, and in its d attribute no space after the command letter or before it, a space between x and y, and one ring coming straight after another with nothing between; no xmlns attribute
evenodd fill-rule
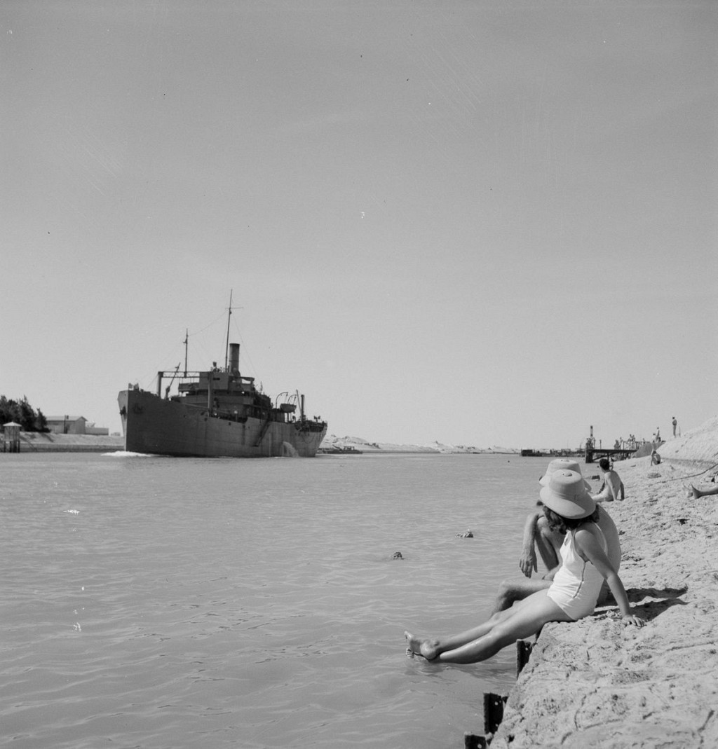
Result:
<svg viewBox="0 0 718 749"><path fill-rule="evenodd" d="M313 458L327 422L307 418L299 392L282 393L273 403L254 377L239 372L239 344L228 349L223 368L213 363L206 372L187 372L185 365L180 372L178 366L157 372L156 392L137 385L121 390L124 449L187 458ZM170 395L175 381L177 392Z"/></svg>

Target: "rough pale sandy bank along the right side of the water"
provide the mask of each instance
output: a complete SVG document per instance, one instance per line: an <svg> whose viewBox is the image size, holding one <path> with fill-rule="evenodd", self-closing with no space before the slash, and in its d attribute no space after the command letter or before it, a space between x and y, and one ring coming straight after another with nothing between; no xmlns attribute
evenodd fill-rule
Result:
<svg viewBox="0 0 718 749"><path fill-rule="evenodd" d="M621 579L648 623L624 626L603 607L546 625L492 749L718 746L718 496L689 490L718 470L718 417L659 452L657 466L616 463L626 499L606 505Z"/></svg>

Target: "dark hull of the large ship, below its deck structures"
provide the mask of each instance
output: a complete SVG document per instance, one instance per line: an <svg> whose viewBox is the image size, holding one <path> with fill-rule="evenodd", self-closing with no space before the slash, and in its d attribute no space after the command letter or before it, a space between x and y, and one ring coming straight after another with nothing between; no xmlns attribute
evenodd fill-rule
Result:
<svg viewBox="0 0 718 749"><path fill-rule="evenodd" d="M122 390L118 404L124 449L199 458L313 458L327 433L314 422L219 419L206 409L166 400L145 390Z"/></svg>

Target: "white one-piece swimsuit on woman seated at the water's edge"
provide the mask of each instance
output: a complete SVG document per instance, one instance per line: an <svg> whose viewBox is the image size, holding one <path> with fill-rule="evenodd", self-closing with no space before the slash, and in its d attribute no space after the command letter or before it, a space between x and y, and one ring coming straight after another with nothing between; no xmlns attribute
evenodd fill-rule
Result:
<svg viewBox="0 0 718 749"><path fill-rule="evenodd" d="M600 533L603 551L606 551L606 539ZM555 574L551 587L546 595L571 619L582 619L594 612L598 594L603 585L603 575L591 564L582 560L576 551L576 542L572 530L566 534L561 545L561 568Z"/></svg>

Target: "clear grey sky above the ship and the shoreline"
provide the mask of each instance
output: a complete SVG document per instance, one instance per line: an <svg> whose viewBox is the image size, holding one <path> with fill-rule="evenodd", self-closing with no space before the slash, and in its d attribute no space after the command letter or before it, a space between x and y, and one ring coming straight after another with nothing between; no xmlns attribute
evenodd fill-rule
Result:
<svg viewBox="0 0 718 749"><path fill-rule="evenodd" d="M718 4L4 0L0 394L223 364L329 433L718 413ZM187 348L185 336L187 335Z"/></svg>

